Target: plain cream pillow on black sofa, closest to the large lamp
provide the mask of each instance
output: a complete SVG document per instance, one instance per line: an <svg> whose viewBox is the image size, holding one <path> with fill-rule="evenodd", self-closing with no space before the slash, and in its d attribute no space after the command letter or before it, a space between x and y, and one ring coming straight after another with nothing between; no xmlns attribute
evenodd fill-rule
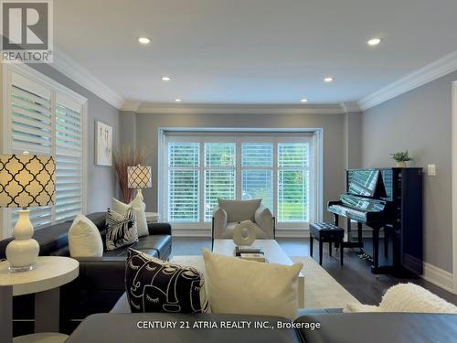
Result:
<svg viewBox="0 0 457 343"><path fill-rule="evenodd" d="M69 255L71 257L101 257L103 242L95 224L79 213L69 228Z"/></svg>

